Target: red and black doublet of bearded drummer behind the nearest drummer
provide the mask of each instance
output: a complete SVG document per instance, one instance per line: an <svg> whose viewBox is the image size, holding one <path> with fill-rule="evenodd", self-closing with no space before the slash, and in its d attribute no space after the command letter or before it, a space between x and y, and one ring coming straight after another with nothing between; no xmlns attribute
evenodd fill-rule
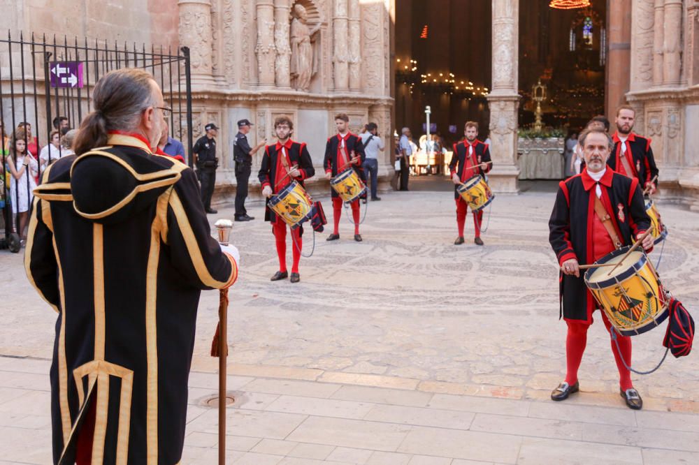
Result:
<svg viewBox="0 0 699 465"><path fill-rule="evenodd" d="M647 187L651 180L658 176L658 168L655 164L653 149L651 149L651 140L635 133L629 133L625 142L625 154L621 147L623 144L619 139L618 131L614 133L612 140L614 140L614 149L607 164L612 170L620 172L622 175L636 177L642 187ZM624 156L626 163L622 158ZM626 172L627 167L631 172ZM658 179L654 181L654 184L658 184Z"/></svg>

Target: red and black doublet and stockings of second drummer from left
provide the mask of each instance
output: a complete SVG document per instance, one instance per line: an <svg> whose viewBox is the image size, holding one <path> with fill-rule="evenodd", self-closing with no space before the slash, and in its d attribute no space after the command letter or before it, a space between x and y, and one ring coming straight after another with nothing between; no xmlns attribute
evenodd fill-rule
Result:
<svg viewBox="0 0 699 465"><path fill-rule="evenodd" d="M354 135L352 133L347 133L343 135L333 135L333 137L328 139L325 145L325 158L323 160L323 168L325 172L331 173L333 177L336 177L340 172L343 172L347 168L347 163L352 157L356 157L358 161L353 163L352 169L356 172L360 179L363 179L363 173L361 165L366 159L366 154L364 154L364 145L361 142L359 135ZM340 225L340 217L342 216L342 206L343 200L340 198L338 193L330 188L330 194L333 199L333 222L334 231L333 234L338 234L338 228ZM354 234L359 234L359 199L354 200L350 204L352 206L352 219L354 221Z"/></svg>

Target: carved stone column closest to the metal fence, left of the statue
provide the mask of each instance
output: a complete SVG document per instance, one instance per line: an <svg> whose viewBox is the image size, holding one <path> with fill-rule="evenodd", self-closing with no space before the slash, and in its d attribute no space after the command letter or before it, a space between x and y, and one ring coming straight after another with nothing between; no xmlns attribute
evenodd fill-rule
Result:
<svg viewBox="0 0 699 465"><path fill-rule="evenodd" d="M192 84L213 82L210 0L180 0L180 45L189 47Z"/></svg>

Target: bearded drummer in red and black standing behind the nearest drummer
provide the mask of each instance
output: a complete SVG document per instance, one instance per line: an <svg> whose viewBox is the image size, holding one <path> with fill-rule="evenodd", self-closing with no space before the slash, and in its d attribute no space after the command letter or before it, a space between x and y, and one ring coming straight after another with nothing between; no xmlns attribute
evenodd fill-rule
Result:
<svg viewBox="0 0 699 465"><path fill-rule="evenodd" d="M633 133L635 110L622 105L617 110L614 122L617 132L612 135L614 149L607 162L610 168L622 175L636 177L649 193L655 193L658 180L658 167L651 149L651 140Z"/></svg>

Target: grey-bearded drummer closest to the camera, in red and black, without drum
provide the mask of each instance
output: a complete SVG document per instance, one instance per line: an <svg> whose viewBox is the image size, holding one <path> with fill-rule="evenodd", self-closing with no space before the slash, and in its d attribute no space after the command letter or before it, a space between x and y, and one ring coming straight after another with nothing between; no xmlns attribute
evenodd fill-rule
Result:
<svg viewBox="0 0 699 465"><path fill-rule="evenodd" d="M559 265L560 315L568 325L565 339L567 371L565 381L551 394L556 401L567 399L579 390L577 370L587 343L587 330L593 323L593 311L598 304L585 285L580 264L592 264L619 246L633 244L635 237L650 227L645 211L643 193L638 180L620 175L607 165L612 151L612 138L603 129L589 128L578 138L585 157L585 170L559 184L551 218L549 219L549 242ZM596 212L596 203L604 208L604 218ZM601 210L598 207L599 210ZM653 237L644 238L642 246L652 249ZM610 321L601 312L603 323L610 331ZM612 341L612 353L619 370L621 396L630 408L642 407L642 399L633 388L630 371L630 337L617 335L621 349Z"/></svg>

